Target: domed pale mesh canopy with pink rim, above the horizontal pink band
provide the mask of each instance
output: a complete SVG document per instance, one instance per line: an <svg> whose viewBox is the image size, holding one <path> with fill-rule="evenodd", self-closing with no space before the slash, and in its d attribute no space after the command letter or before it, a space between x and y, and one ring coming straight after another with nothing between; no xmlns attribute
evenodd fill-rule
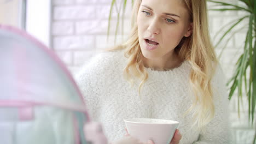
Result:
<svg viewBox="0 0 256 144"><path fill-rule="evenodd" d="M86 112L82 94L53 52L18 29L0 28L1 101L47 103Z"/></svg>

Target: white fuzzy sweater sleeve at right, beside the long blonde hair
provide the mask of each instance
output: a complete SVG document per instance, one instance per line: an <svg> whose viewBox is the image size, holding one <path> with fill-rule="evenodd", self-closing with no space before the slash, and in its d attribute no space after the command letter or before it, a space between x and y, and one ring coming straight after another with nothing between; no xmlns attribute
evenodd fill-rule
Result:
<svg viewBox="0 0 256 144"><path fill-rule="evenodd" d="M220 67L217 68L212 79L212 88L215 105L214 118L206 125L205 131L200 134L199 140L194 144L231 143L228 93L225 87L225 76Z"/></svg>

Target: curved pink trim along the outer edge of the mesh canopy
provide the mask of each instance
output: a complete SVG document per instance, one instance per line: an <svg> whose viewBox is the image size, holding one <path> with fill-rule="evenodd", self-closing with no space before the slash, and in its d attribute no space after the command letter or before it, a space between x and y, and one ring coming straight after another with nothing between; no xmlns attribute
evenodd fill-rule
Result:
<svg viewBox="0 0 256 144"><path fill-rule="evenodd" d="M54 55L54 53L52 51L50 51L47 46L45 46L44 44L40 43L40 41L38 41L37 39L35 39L32 35L28 34L27 32L21 30L21 29L18 29L18 28L15 28L15 27L12 27L12 26L5 26L5 25L0 25L0 28L1 29L6 29L6 30L9 30L9 31L12 31L12 32L15 32L15 33L18 33L30 40L32 40L34 43L38 44L45 52L47 52L60 66L61 68L63 69L63 71L67 74L67 76L69 77L69 79L71 80L71 82L73 83L75 89L77 90L78 94L79 94L79 97L81 98L81 100L83 101L84 103L84 99L83 99L83 95L82 93L79 91L79 88L77 86L77 83L75 83L73 77L71 76L71 74L69 73L68 69L66 68L65 64L62 63L62 61L60 60L59 57L57 57L56 55ZM84 103L85 104L85 103ZM88 112L85 111L84 114L88 117L88 121L90 122L91 119L88 115Z"/></svg>

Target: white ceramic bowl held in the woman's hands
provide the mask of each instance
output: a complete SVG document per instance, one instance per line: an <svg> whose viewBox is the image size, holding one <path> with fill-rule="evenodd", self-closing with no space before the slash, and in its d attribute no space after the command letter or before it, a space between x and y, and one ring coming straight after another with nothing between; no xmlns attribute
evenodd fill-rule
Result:
<svg viewBox="0 0 256 144"><path fill-rule="evenodd" d="M131 118L124 119L128 133L138 140L155 144L170 143L179 122L166 119Z"/></svg>

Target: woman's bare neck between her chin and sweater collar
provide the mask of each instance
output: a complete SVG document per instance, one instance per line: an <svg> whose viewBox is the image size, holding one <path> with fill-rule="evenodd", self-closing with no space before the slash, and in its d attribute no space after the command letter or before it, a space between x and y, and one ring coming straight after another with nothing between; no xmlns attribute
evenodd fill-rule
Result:
<svg viewBox="0 0 256 144"><path fill-rule="evenodd" d="M143 56L143 55L142 55ZM143 56L142 58L144 67L152 68L154 70L165 71L176 67L179 67L182 63L182 59L178 57L178 54L174 51L167 53L160 58L148 59Z"/></svg>

